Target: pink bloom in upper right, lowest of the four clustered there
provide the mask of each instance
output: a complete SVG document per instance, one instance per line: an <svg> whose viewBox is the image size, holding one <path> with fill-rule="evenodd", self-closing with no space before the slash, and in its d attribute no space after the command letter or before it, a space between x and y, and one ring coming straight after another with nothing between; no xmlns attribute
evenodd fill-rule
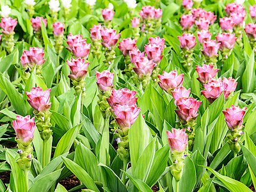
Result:
<svg viewBox="0 0 256 192"><path fill-rule="evenodd" d="M212 58L214 56L218 56L218 50L220 48L220 43L215 42L215 40L209 40L208 42L203 43L204 50L202 53L204 54L205 58Z"/></svg>

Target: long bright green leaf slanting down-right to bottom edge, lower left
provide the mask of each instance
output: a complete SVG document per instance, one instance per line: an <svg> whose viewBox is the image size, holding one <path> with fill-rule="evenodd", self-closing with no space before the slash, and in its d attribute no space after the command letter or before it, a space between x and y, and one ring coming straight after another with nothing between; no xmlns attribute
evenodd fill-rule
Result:
<svg viewBox="0 0 256 192"><path fill-rule="evenodd" d="M68 170L74 173L74 175L76 175L76 177L81 180L81 182L83 182L86 188L99 192L99 189L95 185L92 177L90 177L90 175L83 168L81 168L81 166L66 157L62 157L62 159L66 164Z"/></svg>

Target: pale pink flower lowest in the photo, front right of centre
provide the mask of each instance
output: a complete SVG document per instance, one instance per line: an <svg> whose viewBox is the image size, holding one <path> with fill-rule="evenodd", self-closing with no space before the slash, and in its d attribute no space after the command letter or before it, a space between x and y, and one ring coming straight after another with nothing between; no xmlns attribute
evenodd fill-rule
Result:
<svg viewBox="0 0 256 192"><path fill-rule="evenodd" d="M186 129L172 128L172 132L166 131L170 151L184 152L188 147L188 135Z"/></svg>

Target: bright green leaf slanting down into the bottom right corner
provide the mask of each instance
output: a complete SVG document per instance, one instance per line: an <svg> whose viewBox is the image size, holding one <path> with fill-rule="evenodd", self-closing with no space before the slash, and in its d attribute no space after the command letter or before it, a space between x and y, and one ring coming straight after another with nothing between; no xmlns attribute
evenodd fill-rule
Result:
<svg viewBox="0 0 256 192"><path fill-rule="evenodd" d="M225 184L225 186L230 189L230 191L232 192L249 192L251 191L246 185L244 185L243 183L231 179L230 177L227 176L223 176L220 173L212 170L212 168L207 167L207 166L203 166L204 168L207 168L207 170L209 170L210 172L212 172L218 179L220 179L221 182L223 182L223 184Z"/></svg>

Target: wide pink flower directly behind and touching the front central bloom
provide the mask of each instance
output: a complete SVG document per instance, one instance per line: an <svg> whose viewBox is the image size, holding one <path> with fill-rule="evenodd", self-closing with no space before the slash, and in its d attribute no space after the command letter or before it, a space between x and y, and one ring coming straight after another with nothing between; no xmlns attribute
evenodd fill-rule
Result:
<svg viewBox="0 0 256 192"><path fill-rule="evenodd" d="M136 92L130 91L127 88L115 90L111 89L111 95L109 95L108 104L113 108L116 104L133 106L136 104L138 97L135 97Z"/></svg>

